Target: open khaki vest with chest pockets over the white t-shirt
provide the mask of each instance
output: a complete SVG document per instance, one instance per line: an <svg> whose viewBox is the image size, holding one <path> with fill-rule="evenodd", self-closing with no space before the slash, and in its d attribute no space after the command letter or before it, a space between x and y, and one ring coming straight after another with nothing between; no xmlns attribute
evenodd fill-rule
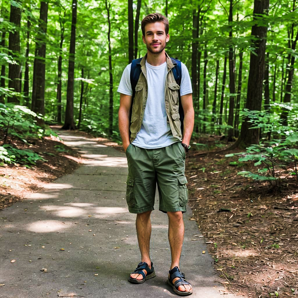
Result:
<svg viewBox="0 0 298 298"><path fill-rule="evenodd" d="M141 125L143 122L147 96L148 96L148 83L147 83L147 72L146 72L146 58L147 54L143 57L140 62L141 65L141 74L136 84L136 95L134 97L134 103L132 106L132 114L131 114L131 125L130 125L130 142L132 142L137 133L141 129ZM171 69L175 66L171 60L171 58L166 53L166 62L167 62L167 77L166 83L164 86L164 102L166 106L167 112L167 122L170 123L171 131L174 137L181 140L181 122L179 116L179 102L178 102L178 92L180 86L176 83L173 73ZM158 123L156 123L158 125Z"/></svg>

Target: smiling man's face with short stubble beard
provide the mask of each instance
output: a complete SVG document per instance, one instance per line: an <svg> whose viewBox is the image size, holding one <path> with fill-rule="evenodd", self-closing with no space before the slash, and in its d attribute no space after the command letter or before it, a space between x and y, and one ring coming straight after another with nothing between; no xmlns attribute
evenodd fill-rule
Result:
<svg viewBox="0 0 298 298"><path fill-rule="evenodd" d="M155 22L145 26L145 36L142 38L150 53L159 54L165 49L166 43L170 40L170 35L166 35L162 22Z"/></svg>

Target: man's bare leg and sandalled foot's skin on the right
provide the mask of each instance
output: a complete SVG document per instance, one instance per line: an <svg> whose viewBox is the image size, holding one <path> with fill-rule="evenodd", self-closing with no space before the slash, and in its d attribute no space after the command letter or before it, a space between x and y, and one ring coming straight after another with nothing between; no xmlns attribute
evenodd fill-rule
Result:
<svg viewBox="0 0 298 298"><path fill-rule="evenodd" d="M173 269L176 266L180 269L179 261L180 261L183 238L184 238L183 215L181 211L167 212L167 215L169 218L168 236L169 236L169 243L170 243L171 257L172 257L172 263L171 263L170 269ZM175 281L178 279L179 277L175 278L173 280L173 283L175 283ZM191 289L192 289L191 285L180 285L178 287L178 290L181 292L191 291Z"/></svg>

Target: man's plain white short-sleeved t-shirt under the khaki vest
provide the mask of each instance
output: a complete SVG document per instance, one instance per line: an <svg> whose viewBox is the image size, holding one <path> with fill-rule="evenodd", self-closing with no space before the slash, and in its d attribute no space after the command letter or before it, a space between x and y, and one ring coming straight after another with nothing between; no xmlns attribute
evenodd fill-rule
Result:
<svg viewBox="0 0 298 298"><path fill-rule="evenodd" d="M130 83L131 64L123 71L117 91L125 95L132 95ZM146 61L148 97L142 126L132 144L146 149L169 146L179 139L173 137L164 102L164 87L167 76L167 63L159 66L150 65ZM187 67L181 63L180 95L192 93L190 75Z"/></svg>

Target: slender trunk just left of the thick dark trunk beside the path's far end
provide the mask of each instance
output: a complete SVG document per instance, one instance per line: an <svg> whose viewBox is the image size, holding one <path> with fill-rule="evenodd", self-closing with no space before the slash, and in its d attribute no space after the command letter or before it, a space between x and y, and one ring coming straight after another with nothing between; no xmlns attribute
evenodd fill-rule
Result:
<svg viewBox="0 0 298 298"><path fill-rule="evenodd" d="M64 10L64 17L66 11ZM61 98L61 91L62 91L62 46L64 41L64 24L65 20L61 18L61 13L59 11L59 23L60 23L60 51L59 51L59 58L58 58L58 82L57 82L57 122L60 124L62 123L62 98Z"/></svg>

